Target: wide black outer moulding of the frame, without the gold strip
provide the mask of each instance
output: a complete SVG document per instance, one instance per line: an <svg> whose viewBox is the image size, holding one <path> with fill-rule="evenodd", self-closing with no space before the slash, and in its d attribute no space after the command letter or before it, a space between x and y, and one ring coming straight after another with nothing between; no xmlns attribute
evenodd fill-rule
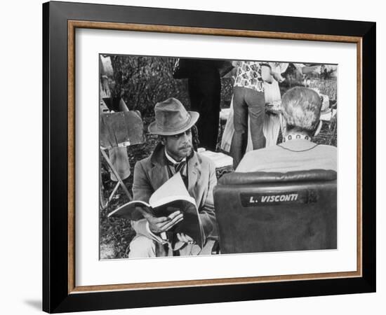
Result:
<svg viewBox="0 0 386 315"><path fill-rule="evenodd" d="M246 29L363 38L363 276L68 294L67 20ZM193 10L43 4L43 310L123 309L375 292L375 23Z"/></svg>

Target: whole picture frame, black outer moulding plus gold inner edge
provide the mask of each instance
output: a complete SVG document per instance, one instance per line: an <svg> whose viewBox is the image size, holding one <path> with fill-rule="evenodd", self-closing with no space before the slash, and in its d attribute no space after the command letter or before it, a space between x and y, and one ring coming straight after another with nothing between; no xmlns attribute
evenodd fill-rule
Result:
<svg viewBox="0 0 386 315"><path fill-rule="evenodd" d="M105 286L75 283L75 30L357 45L357 270ZM375 292L373 22L48 2L43 5L43 309L50 313Z"/></svg>

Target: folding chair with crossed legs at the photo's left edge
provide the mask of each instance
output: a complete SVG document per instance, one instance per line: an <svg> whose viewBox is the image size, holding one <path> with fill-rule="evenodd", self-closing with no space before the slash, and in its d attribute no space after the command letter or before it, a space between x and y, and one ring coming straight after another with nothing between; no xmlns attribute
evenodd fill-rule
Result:
<svg viewBox="0 0 386 315"><path fill-rule="evenodd" d="M128 192L124 182L119 176L116 167L112 164L105 151L111 148L126 148L133 144L143 142L143 123L140 115L135 111L118 113L102 113L100 115L100 153L105 159L109 169L117 178L117 184L105 202L102 192L102 174L100 172L100 205L105 209L117 193L119 186L124 190L128 200L132 200L131 193Z"/></svg>

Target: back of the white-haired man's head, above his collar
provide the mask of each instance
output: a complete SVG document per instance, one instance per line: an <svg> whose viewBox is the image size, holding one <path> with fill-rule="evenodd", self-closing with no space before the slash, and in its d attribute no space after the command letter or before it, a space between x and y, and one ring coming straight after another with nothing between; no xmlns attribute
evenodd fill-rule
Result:
<svg viewBox="0 0 386 315"><path fill-rule="evenodd" d="M321 111L321 98L307 87L293 87L281 99L281 111L287 132L296 130L313 134L317 129Z"/></svg>

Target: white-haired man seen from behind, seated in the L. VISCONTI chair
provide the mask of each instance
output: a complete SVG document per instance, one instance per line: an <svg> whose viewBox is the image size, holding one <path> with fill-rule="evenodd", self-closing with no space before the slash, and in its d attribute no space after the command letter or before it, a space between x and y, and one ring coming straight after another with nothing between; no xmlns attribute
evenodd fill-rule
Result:
<svg viewBox="0 0 386 315"><path fill-rule="evenodd" d="M312 142L321 128L321 98L307 87L293 87L281 99L286 123L283 143L246 153L236 172L336 171L335 146Z"/></svg>

